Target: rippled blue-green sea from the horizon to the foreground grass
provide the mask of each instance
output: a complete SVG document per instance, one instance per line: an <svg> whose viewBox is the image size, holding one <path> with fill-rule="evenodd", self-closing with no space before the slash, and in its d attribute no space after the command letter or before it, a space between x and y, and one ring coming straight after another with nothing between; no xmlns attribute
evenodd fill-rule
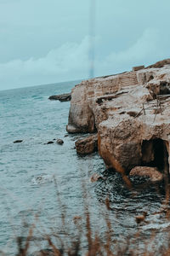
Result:
<svg viewBox="0 0 170 256"><path fill-rule="evenodd" d="M28 236L29 253L35 255L49 247L47 236L64 237L64 226L67 235L74 237L75 219L83 222L87 207L94 234L105 239L107 217L116 245L122 247L140 237L139 255L144 241L152 239L157 248L168 241L165 230L170 222L162 211L164 195L155 186L134 193L120 174L105 170L98 153L77 155L75 142L87 135L68 134L70 102L48 97L71 92L79 82L0 91L0 252L4 255L16 255L19 243L25 244ZM58 138L63 145L56 143ZM101 178L92 183L94 173ZM141 182L134 180L135 185ZM146 218L138 224L136 216L143 212ZM86 224L82 226L86 234ZM82 236L82 251L86 248L86 236Z"/></svg>

